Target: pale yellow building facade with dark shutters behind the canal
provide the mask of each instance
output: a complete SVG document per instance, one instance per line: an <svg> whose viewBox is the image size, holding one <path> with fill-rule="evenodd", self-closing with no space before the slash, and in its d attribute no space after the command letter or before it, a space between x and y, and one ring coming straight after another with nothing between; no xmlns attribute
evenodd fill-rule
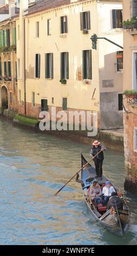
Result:
<svg viewBox="0 0 137 256"><path fill-rule="evenodd" d="M102 115L108 115L107 127L111 95L116 121L111 120L110 128L122 127L122 72L116 57L120 48L97 41L97 50L92 50L90 40L95 33L122 45L121 1L43 1L42 6L39 2L28 13L20 8L24 16L15 19L19 113L38 118L52 106L57 111L95 111L100 127L101 107ZM105 101L100 105L100 95L102 102L108 100L106 106Z"/></svg>

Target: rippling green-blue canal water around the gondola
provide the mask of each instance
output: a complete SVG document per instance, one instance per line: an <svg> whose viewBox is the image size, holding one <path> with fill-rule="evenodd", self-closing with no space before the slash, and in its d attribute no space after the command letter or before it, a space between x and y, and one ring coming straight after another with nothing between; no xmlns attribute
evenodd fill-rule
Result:
<svg viewBox="0 0 137 256"><path fill-rule="evenodd" d="M100 228L75 180L53 196L80 169L80 151L90 146L32 133L0 120L1 245L136 245L137 199L125 192L131 223L125 236ZM123 191L123 153L105 153L103 173Z"/></svg>

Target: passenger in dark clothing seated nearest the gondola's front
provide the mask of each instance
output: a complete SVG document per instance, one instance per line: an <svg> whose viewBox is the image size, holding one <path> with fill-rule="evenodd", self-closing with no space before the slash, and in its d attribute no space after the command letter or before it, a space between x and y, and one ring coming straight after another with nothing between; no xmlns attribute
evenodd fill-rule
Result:
<svg viewBox="0 0 137 256"><path fill-rule="evenodd" d="M118 210L123 209L123 203L120 197L116 194L116 192L112 192L112 196L109 198L108 203L107 203L107 210L110 208L113 208L116 210L116 207Z"/></svg>

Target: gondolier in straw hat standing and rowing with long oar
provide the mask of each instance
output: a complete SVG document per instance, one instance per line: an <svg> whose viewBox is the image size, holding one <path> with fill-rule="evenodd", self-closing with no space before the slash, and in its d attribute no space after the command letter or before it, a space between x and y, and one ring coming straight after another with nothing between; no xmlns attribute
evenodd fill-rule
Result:
<svg viewBox="0 0 137 256"><path fill-rule="evenodd" d="M90 157L92 157L95 162L96 178L102 180L102 164L104 160L103 151L107 149L105 147L102 147L99 141L94 141L92 144L93 147L90 151ZM100 154L94 157L97 153L99 153L100 150Z"/></svg>

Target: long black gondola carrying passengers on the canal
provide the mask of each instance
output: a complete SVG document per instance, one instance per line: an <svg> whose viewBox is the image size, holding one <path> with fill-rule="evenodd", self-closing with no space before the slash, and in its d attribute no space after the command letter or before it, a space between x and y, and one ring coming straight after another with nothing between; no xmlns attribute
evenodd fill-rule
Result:
<svg viewBox="0 0 137 256"><path fill-rule="evenodd" d="M87 163L86 159L84 159L83 155L81 154L81 168ZM128 228L129 223L129 208L126 203L125 198L123 195L120 194L118 188L116 188L112 182L111 184L114 186L115 191L118 193L118 196L121 198L123 203L123 209L118 210L117 208L107 210L107 206L97 206L97 204L93 203L88 196L88 188L92 184L94 180L99 182L99 185L102 187L103 184L108 180L104 175L102 176L102 180L99 178L95 178L95 168L91 164L87 164L81 170L81 185L82 185L82 192L88 209L95 220L102 225L110 233L115 235L123 236ZM107 211L106 211L107 210Z"/></svg>

